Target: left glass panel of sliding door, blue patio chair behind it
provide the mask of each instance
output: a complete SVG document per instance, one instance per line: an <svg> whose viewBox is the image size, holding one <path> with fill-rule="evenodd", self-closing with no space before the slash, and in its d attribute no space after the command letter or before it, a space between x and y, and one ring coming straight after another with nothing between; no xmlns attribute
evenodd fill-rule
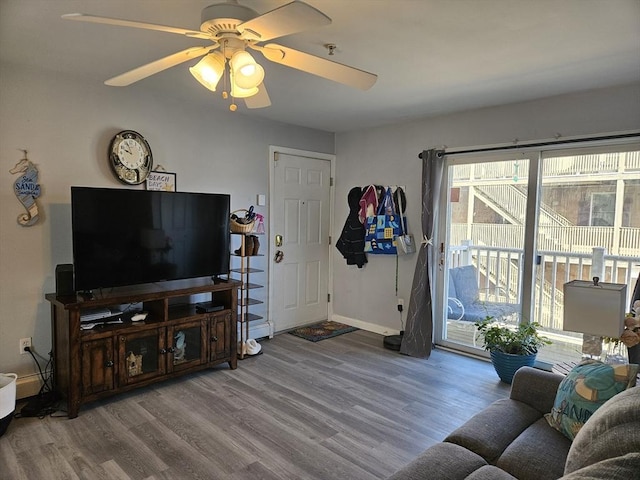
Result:
<svg viewBox="0 0 640 480"><path fill-rule="evenodd" d="M468 350L477 347L476 321L521 316L530 162L519 152L446 161L440 341Z"/></svg>

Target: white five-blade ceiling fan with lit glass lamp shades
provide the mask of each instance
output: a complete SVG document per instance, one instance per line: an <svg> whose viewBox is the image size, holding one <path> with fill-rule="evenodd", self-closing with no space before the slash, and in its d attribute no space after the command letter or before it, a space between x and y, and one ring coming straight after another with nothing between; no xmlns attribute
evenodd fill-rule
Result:
<svg viewBox="0 0 640 480"><path fill-rule="evenodd" d="M271 105L263 83L264 69L247 49L260 52L272 62L361 90L371 88L378 78L373 73L283 45L264 44L274 38L331 23L331 19L324 13L301 1L293 1L262 15L249 7L239 5L236 0L209 5L202 10L199 31L83 13L69 13L62 15L62 18L156 30L208 40L211 42L208 45L187 48L117 75L104 83L124 87L181 63L203 57L189 68L191 74L211 91L216 91L218 83L222 80L222 96L228 98L229 94L231 95L232 111L237 108L234 98L243 98L248 108ZM333 48L327 48L332 54Z"/></svg>

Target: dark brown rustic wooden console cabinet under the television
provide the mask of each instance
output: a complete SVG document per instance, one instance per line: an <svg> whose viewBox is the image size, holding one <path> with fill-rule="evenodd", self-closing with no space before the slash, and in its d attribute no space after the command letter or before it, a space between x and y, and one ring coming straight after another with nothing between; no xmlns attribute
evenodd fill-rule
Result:
<svg viewBox="0 0 640 480"><path fill-rule="evenodd" d="M67 400L69 418L77 417L84 403L136 387L223 362L235 369L239 286L234 280L199 278L102 289L90 297L47 294L54 387ZM195 305L200 302L222 309L201 313ZM133 322L127 308L140 305L148 315ZM82 315L97 308L123 313L81 329ZM122 323L102 323L107 320Z"/></svg>

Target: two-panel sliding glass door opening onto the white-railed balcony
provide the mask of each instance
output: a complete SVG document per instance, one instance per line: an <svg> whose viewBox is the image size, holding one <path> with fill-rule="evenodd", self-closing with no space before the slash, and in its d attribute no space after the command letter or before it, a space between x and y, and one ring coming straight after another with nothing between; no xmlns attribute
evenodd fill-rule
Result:
<svg viewBox="0 0 640 480"><path fill-rule="evenodd" d="M543 362L581 357L563 329L563 285L628 286L640 271L640 147L447 155L437 249L436 343L480 353L474 322L536 321ZM630 303L630 302L628 302Z"/></svg>

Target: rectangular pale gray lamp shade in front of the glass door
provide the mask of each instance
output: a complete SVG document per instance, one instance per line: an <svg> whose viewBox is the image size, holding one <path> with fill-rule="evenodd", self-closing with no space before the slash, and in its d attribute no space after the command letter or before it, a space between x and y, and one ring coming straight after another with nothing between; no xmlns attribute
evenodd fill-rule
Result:
<svg viewBox="0 0 640 480"><path fill-rule="evenodd" d="M627 286L574 280L564 284L563 330L618 338L624 330Z"/></svg>

